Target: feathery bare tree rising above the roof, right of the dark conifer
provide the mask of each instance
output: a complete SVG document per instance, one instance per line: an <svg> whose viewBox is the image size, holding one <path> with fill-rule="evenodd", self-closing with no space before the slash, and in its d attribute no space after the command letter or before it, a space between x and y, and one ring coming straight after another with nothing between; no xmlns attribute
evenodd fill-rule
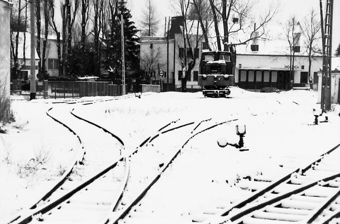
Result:
<svg viewBox="0 0 340 224"><path fill-rule="evenodd" d="M154 36L158 31L159 19L153 0L145 0L146 8L142 9L141 35Z"/></svg>

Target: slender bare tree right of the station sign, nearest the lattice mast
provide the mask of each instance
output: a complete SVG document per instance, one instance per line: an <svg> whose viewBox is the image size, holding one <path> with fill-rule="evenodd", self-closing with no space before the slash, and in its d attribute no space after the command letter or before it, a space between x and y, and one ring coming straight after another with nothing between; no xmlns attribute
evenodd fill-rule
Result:
<svg viewBox="0 0 340 224"><path fill-rule="evenodd" d="M303 20L303 31L304 35L306 36L305 45L307 47L308 52L308 77L311 82L311 74L310 74L310 67L311 67L311 57L313 55L313 47L315 40L321 38L321 24L320 21L316 17L316 13L314 9L311 9L310 14L308 17L305 17Z"/></svg>

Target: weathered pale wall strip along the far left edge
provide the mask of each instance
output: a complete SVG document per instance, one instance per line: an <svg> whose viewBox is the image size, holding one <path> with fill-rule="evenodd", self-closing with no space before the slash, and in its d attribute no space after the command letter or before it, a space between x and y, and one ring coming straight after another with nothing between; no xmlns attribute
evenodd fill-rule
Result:
<svg viewBox="0 0 340 224"><path fill-rule="evenodd" d="M1 107L3 102L9 102L10 86L10 35L9 35L9 18L11 3L0 0L0 98ZM9 110L8 108L5 110Z"/></svg>

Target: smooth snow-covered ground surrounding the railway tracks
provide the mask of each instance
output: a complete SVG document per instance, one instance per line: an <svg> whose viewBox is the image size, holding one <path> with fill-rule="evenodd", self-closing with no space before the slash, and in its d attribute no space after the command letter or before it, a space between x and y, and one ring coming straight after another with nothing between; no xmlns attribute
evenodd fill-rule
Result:
<svg viewBox="0 0 340 224"><path fill-rule="evenodd" d="M229 98L203 98L199 92L165 92L142 95L140 99L72 104L71 108L76 115L117 135L127 150L178 119L185 123L211 118L206 126L238 119L191 139L148 191L138 213L131 214L134 218L125 220L184 223L199 220L203 213L225 208L251 194L240 188L243 178L259 173L283 175L339 144L340 106L333 105L334 111L326 114L327 123L311 125L312 109L319 108L316 98L316 92L305 90L254 93L232 88ZM74 159L75 150L71 149L79 147L76 137L45 114L50 107L58 107L51 104L53 101L12 101L16 122L6 127L7 134L0 134L0 218L8 218L29 205ZM243 124L249 151L218 147L216 141L220 138L237 142L235 125ZM180 147L189 132L177 135L163 134L159 138L162 141L155 140L152 147L159 147L157 151ZM147 159L142 158L146 164ZM131 160L132 167L133 163L137 160ZM133 169L130 176L144 177L142 171Z"/></svg>

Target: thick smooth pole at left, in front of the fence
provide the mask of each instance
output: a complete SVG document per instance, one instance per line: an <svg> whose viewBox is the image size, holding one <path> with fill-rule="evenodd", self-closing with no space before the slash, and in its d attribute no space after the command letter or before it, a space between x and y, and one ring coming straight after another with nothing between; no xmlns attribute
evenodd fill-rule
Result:
<svg viewBox="0 0 340 224"><path fill-rule="evenodd" d="M30 86L29 86L29 99L35 99L35 11L34 11L35 0L30 1ZM39 37L38 37L39 38Z"/></svg>

